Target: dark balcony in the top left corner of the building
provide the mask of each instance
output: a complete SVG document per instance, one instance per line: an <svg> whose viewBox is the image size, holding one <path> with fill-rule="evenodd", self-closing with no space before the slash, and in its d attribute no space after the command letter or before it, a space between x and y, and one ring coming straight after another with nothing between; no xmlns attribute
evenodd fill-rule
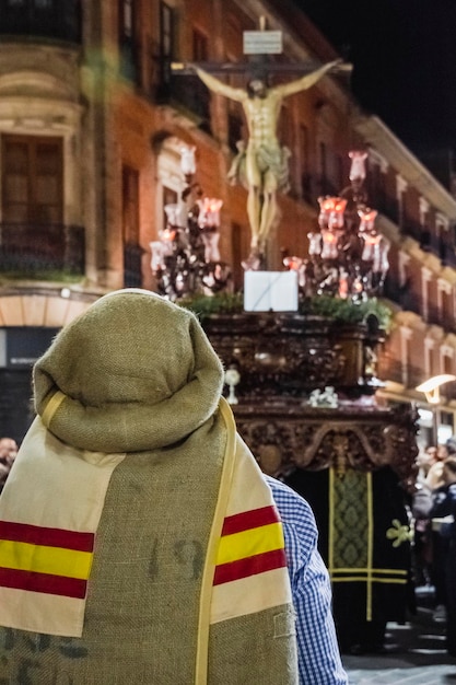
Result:
<svg viewBox="0 0 456 685"><path fill-rule="evenodd" d="M0 0L0 35L81 42L80 0Z"/></svg>

